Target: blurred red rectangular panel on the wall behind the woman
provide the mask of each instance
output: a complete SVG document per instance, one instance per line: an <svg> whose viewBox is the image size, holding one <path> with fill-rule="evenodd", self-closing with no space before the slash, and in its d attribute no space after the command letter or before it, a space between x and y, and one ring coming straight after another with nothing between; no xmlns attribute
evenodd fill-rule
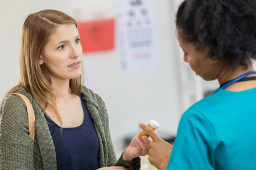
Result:
<svg viewBox="0 0 256 170"><path fill-rule="evenodd" d="M82 52L97 52L114 48L114 19L79 22Z"/></svg>

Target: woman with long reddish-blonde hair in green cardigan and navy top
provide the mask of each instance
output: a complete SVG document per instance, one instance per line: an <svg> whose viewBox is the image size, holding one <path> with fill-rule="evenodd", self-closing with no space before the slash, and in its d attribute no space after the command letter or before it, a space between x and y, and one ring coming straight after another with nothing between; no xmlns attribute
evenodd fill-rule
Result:
<svg viewBox="0 0 256 170"><path fill-rule="evenodd" d="M18 95L5 97L0 169L140 168L138 156L147 154L146 145L134 138L117 161L105 103L82 85L82 47L71 16L56 10L28 15L19 67L19 83L6 95L15 92L30 100L35 141L29 137L24 101Z"/></svg>

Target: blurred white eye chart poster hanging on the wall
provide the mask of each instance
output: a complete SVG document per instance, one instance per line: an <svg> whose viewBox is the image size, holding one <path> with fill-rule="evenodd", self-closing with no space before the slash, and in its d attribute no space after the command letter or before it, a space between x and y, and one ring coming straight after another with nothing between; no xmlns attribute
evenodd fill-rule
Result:
<svg viewBox="0 0 256 170"><path fill-rule="evenodd" d="M154 0L115 0L115 8L122 73L157 70Z"/></svg>

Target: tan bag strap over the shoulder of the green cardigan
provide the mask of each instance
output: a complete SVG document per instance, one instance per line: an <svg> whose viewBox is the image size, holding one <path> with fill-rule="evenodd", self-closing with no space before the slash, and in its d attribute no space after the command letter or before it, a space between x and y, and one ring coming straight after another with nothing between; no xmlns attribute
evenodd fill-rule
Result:
<svg viewBox="0 0 256 170"><path fill-rule="evenodd" d="M9 94L9 95L19 95L20 97L22 97L22 99L26 103L27 116L28 116L28 126L29 126L28 130L30 131L30 137L33 139L32 143L34 143L34 139L35 139L35 113L34 113L34 109L32 107L32 104L30 103L30 100L28 100L27 97L22 95L22 94L13 93L13 94ZM9 95L7 95L7 96L9 96Z"/></svg>

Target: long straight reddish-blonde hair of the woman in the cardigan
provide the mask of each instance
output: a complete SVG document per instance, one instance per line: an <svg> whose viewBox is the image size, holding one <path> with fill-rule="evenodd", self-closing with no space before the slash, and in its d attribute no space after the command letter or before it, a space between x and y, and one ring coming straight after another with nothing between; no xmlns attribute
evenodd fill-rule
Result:
<svg viewBox="0 0 256 170"><path fill-rule="evenodd" d="M20 88L25 88L35 98L44 113L48 108L56 114L55 116L59 120L61 127L62 121L57 111L56 95L53 94L51 78L46 69L39 65L39 58L49 37L59 25L64 24L75 24L77 27L75 19L57 10L43 10L28 15L22 28L20 41L19 82L6 94L7 96ZM84 73L82 66L82 74L78 78L70 80L69 86L72 94L80 94L83 84Z"/></svg>

